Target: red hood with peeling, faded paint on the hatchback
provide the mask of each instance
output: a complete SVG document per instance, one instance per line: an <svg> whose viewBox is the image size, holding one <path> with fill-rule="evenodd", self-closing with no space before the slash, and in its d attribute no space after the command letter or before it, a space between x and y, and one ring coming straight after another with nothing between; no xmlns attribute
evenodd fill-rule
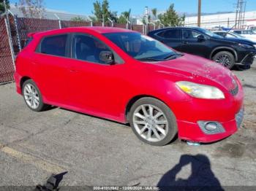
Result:
<svg viewBox="0 0 256 191"><path fill-rule="evenodd" d="M161 66L158 68L158 72L171 74L178 77L178 80L188 80L200 84L207 84L211 80L227 90L236 88L233 73L219 63L206 58L184 54L180 58L154 64Z"/></svg>

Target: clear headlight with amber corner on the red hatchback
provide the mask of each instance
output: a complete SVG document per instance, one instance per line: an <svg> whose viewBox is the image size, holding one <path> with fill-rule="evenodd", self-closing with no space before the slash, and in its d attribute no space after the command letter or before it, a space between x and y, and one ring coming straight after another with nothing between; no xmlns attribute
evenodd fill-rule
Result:
<svg viewBox="0 0 256 191"><path fill-rule="evenodd" d="M210 85L200 85L193 82L181 81L176 82L181 90L195 98L205 98L205 99L223 99L225 95L217 87Z"/></svg>

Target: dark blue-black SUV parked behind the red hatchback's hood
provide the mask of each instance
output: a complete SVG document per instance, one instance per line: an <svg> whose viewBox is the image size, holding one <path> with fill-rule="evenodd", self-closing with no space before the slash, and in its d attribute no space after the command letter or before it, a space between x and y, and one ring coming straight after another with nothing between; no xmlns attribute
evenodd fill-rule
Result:
<svg viewBox="0 0 256 191"><path fill-rule="evenodd" d="M162 28L150 31L148 36L180 52L214 60L228 69L235 65L238 65L239 69L249 69L256 54L255 42L227 39L197 27Z"/></svg>

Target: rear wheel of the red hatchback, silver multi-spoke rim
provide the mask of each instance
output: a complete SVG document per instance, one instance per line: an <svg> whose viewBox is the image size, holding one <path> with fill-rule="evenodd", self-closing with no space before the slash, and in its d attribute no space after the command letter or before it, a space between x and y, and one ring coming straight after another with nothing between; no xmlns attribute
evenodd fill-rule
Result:
<svg viewBox="0 0 256 191"><path fill-rule="evenodd" d="M41 112L46 108L47 105L42 102L42 95L32 79L23 83L22 93L26 105L32 111Z"/></svg>

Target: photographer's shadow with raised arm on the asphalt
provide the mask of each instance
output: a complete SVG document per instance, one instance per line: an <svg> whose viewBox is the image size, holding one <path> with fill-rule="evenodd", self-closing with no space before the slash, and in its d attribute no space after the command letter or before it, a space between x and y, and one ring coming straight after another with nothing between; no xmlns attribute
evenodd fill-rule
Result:
<svg viewBox="0 0 256 191"><path fill-rule="evenodd" d="M185 165L191 164L191 174L187 179L177 179L177 174ZM219 180L211 171L211 163L206 155L181 155L179 163L162 176L159 190L223 190Z"/></svg>

